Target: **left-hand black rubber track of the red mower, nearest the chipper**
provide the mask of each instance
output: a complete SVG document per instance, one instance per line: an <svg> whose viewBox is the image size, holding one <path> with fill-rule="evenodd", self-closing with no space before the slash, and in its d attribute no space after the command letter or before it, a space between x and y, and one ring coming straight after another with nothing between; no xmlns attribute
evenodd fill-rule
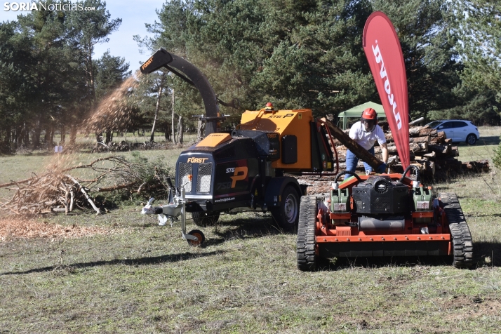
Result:
<svg viewBox="0 0 501 334"><path fill-rule="evenodd" d="M296 254L298 256L298 269L303 272L314 271L318 265L315 240L316 213L316 197L302 196Z"/></svg>

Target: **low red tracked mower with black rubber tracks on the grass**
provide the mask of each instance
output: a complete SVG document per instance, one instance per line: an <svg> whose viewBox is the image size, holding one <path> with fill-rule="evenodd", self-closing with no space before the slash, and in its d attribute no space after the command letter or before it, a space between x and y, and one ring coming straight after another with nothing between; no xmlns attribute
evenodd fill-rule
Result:
<svg viewBox="0 0 501 334"><path fill-rule="evenodd" d="M402 174L343 171L327 198L303 196L298 226L298 268L319 258L451 255L457 268L473 264L472 235L457 196Z"/></svg>

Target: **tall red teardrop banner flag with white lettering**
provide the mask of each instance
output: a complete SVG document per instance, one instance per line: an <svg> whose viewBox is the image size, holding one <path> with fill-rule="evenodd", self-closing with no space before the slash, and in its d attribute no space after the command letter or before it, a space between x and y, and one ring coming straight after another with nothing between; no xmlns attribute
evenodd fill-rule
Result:
<svg viewBox="0 0 501 334"><path fill-rule="evenodd" d="M362 46L405 169L410 163L406 67L399 37L385 13L370 14L363 28Z"/></svg>

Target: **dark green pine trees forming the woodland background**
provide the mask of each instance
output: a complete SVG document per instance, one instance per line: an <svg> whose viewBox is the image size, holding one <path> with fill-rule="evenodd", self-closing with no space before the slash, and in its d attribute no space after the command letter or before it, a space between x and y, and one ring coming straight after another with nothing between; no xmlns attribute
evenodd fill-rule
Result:
<svg viewBox="0 0 501 334"><path fill-rule="evenodd" d="M121 19L100 0L77 4L96 10L33 11L0 23L4 147L52 145L56 129L74 140L79 122L131 76L120 56L92 59ZM221 100L239 98L241 109L221 107L224 114L273 102L320 116L380 102L361 45L373 11L386 13L399 35L411 120L500 124L499 1L172 0L146 22L153 37L135 39L145 59L166 48L199 67ZM129 131L155 123L175 137L173 127L179 133L190 116L203 114L199 93L185 81L165 72L137 80ZM124 129L102 129L113 130Z"/></svg>

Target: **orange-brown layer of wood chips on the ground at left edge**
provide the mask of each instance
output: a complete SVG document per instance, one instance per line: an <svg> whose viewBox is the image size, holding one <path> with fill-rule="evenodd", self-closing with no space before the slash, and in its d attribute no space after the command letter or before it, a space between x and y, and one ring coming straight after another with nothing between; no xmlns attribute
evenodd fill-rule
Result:
<svg viewBox="0 0 501 334"><path fill-rule="evenodd" d="M20 218L0 218L0 241L9 238L72 238L94 234L109 234L102 227L69 227Z"/></svg>

